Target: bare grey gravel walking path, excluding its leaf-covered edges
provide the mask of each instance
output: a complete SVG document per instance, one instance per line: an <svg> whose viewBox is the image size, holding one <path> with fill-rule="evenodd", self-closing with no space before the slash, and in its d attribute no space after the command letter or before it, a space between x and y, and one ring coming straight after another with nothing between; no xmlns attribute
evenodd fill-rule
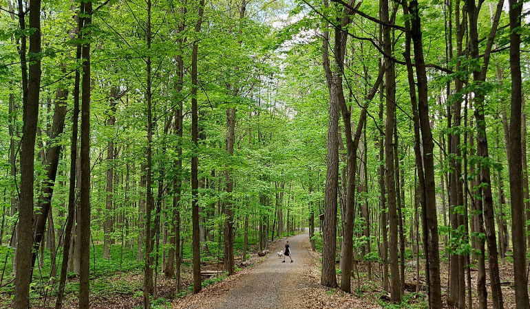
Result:
<svg viewBox="0 0 530 309"><path fill-rule="evenodd" d="M268 258L253 268L251 273L241 277L235 287L226 291L209 308L288 308L293 301L293 293L301 284L301 274L304 272L310 256L304 248L304 241L308 233L288 238L293 263L289 258L282 263L277 252L284 250L285 241L279 242Z"/></svg>

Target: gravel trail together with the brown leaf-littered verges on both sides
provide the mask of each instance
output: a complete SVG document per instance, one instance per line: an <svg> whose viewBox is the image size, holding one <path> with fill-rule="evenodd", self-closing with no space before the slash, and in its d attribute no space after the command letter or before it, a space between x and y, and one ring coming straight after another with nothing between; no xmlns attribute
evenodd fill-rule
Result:
<svg viewBox="0 0 530 309"><path fill-rule="evenodd" d="M308 233L288 240L293 263L278 258L279 242L261 264L178 299L173 308L381 308L373 299L321 286L319 254L310 251Z"/></svg>

